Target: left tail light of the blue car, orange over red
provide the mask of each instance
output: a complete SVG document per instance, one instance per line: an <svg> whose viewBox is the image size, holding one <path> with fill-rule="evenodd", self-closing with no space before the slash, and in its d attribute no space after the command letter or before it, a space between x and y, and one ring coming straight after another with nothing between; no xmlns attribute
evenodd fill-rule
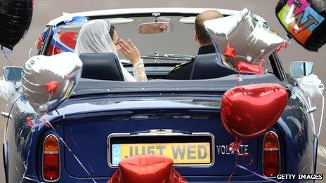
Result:
<svg viewBox="0 0 326 183"><path fill-rule="evenodd" d="M54 135L48 135L44 140L42 170L46 181L56 181L60 177L59 142Z"/></svg>

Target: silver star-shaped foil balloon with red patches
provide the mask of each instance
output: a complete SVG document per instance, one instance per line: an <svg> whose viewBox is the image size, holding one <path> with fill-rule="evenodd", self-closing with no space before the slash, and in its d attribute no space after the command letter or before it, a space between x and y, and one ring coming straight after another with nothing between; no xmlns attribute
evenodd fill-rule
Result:
<svg viewBox="0 0 326 183"><path fill-rule="evenodd" d="M204 22L211 40L226 60L221 65L240 69L239 64L255 68L286 41L244 8L235 15ZM254 72L254 71L253 71Z"/></svg>

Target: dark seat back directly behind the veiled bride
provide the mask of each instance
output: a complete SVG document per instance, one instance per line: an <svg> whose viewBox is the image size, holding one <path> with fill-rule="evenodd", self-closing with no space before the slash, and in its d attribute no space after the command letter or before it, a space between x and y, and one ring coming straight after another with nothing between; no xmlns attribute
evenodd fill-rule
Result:
<svg viewBox="0 0 326 183"><path fill-rule="evenodd" d="M119 59L115 53L82 53L82 78L124 81Z"/></svg>

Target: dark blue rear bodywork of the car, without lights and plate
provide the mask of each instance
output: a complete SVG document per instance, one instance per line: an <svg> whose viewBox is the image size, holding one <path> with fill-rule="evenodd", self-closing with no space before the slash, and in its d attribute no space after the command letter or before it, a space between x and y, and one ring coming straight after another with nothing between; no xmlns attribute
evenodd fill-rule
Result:
<svg viewBox="0 0 326 183"><path fill-rule="evenodd" d="M258 79L256 76L243 76L243 84L254 81L287 86L287 107L270 129L280 141L280 173L315 173L318 142L313 134L311 115L307 112L308 104L296 81L283 71L276 53L270 60L277 72L263 74ZM116 133L132 136L155 129L171 129L183 135L209 133L214 136L212 165L176 166L176 170L189 182L226 182L233 173L236 156L226 149L235 138L223 128L219 111L223 93L237 83L234 76L132 84L89 79L79 82L74 95L58 109L42 117L47 118L55 130L45 123L40 123L35 129L27 126L26 118L36 116L36 112L25 97L15 101L10 110L12 118L7 121L3 152L7 182L45 182L42 176L42 147L44 139L50 134L62 138L72 151L59 140L58 182L107 182L117 170L108 162L107 137ZM247 170L236 168L231 182L271 182L253 173L263 175L263 136L246 140L240 151L249 154L238 159Z"/></svg>

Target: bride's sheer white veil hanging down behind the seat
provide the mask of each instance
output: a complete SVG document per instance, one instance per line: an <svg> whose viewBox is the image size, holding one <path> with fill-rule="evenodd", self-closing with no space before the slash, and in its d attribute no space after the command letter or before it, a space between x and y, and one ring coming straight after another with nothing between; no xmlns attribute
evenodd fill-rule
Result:
<svg viewBox="0 0 326 183"><path fill-rule="evenodd" d="M91 20L81 27L74 53L115 53L117 49L109 34L110 22L105 20ZM136 79L123 67L120 62L124 81L136 81ZM107 71L110 72L110 71Z"/></svg>

